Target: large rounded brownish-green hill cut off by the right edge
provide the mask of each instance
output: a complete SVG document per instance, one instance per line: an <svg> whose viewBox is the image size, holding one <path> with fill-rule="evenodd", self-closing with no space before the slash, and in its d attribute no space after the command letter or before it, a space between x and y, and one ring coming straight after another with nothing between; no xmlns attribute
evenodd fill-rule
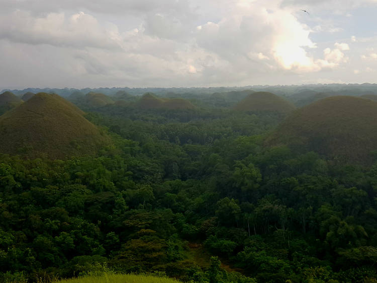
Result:
<svg viewBox="0 0 377 283"><path fill-rule="evenodd" d="M288 116L266 143L367 164L377 150L377 102L351 96L316 101Z"/></svg>

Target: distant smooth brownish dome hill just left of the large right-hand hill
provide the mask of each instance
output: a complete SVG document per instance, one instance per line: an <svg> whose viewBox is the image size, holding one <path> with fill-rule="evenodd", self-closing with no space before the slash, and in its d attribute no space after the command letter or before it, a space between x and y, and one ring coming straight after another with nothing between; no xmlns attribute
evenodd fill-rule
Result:
<svg viewBox="0 0 377 283"><path fill-rule="evenodd" d="M268 111L277 113L288 113L295 109L295 106L270 92L254 92L249 94L234 106L239 111Z"/></svg>

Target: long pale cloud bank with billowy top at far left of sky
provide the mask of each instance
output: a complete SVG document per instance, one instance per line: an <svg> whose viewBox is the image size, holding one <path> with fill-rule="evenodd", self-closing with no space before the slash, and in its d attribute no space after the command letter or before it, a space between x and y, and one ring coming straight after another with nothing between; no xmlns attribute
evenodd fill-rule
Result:
<svg viewBox="0 0 377 283"><path fill-rule="evenodd" d="M22 11L0 18L0 39L29 44L99 48L120 48L122 40L116 25L101 25L95 17L83 12L70 16L49 13L45 17L33 17Z"/></svg>

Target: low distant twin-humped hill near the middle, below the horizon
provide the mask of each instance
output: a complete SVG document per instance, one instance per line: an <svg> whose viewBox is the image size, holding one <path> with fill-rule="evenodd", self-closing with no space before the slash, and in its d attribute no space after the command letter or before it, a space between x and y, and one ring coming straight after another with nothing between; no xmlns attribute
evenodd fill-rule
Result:
<svg viewBox="0 0 377 283"><path fill-rule="evenodd" d="M151 93L144 94L136 103L141 109L194 109L195 106L182 98L158 98Z"/></svg>

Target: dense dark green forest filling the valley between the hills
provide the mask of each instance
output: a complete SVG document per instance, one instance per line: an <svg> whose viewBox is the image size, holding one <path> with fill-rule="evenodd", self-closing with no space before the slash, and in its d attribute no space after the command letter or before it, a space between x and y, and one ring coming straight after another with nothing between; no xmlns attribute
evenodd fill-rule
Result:
<svg viewBox="0 0 377 283"><path fill-rule="evenodd" d="M0 280L106 267L210 283L376 282L375 153L365 164L269 145L286 114L216 107L224 97L192 109L80 100L112 141L97 155L1 154Z"/></svg>

